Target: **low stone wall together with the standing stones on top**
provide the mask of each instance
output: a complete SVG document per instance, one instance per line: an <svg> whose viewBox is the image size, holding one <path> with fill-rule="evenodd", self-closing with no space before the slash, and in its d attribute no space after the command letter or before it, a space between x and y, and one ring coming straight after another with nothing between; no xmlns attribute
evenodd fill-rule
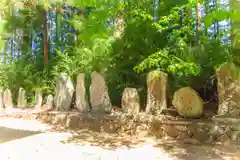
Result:
<svg viewBox="0 0 240 160"><path fill-rule="evenodd" d="M234 76L236 77L235 72ZM41 105L41 94L36 93L34 110L27 110L20 114L6 114L3 111L2 116L33 118L65 128L85 128L98 132L124 132L130 135L153 135L158 138L173 139L190 138L199 142L238 141L239 115L230 112L234 109L238 111L238 99L226 99L228 96L224 92L225 88L229 88L229 84L237 85L238 79L231 78L233 77L232 72L226 72L230 77L226 80L224 74L224 71L217 70L218 92L221 98L219 110L222 111L219 111L219 115L208 119L202 117L203 100L190 87L177 90L173 96L174 108L168 108L166 104L167 75L160 71L150 72L147 77L148 103L146 111L143 112L140 112L140 97L135 88L124 90L122 109L116 110L109 98L107 82L104 77L93 72L89 96L86 95L83 73L77 77L76 89L70 77L66 73L62 73L56 86L55 96L48 95L45 104ZM19 95L19 104L24 105L16 107L25 106L25 93L23 94L22 90L19 92L22 94ZM76 94L75 99L73 99L73 94ZM239 93L234 91L234 95L238 96ZM9 89L6 89L1 97L3 110L13 107ZM76 101L75 111L71 106L73 100ZM234 105L225 105L225 101L234 101ZM236 107L234 108L234 106Z"/></svg>

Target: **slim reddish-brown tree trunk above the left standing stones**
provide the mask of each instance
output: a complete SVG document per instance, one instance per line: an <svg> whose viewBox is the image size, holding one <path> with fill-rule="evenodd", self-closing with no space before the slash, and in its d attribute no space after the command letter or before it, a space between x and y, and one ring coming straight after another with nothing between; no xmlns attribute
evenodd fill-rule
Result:
<svg viewBox="0 0 240 160"><path fill-rule="evenodd" d="M43 52L44 52L44 65L48 65L48 23L47 11L43 11Z"/></svg>

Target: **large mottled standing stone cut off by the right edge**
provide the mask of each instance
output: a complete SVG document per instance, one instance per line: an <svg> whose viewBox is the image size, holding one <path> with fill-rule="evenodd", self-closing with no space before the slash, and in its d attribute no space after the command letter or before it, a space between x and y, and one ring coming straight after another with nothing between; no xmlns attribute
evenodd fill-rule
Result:
<svg viewBox="0 0 240 160"><path fill-rule="evenodd" d="M240 68L226 63L216 70L218 115L240 116Z"/></svg>

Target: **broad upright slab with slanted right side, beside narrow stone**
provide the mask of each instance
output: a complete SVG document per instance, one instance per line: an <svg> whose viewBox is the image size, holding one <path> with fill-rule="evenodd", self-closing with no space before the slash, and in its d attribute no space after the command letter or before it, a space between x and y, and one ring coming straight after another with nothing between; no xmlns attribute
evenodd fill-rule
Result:
<svg viewBox="0 0 240 160"><path fill-rule="evenodd" d="M111 112L112 104L108 95L107 84L100 74L93 72L91 75L90 102L92 112Z"/></svg>

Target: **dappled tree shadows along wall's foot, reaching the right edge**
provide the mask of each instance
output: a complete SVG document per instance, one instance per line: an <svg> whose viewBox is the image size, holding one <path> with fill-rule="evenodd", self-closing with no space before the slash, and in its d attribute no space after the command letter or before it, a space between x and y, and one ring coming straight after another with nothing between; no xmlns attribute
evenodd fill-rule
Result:
<svg viewBox="0 0 240 160"><path fill-rule="evenodd" d="M147 138L141 139L128 135L89 130L73 132L72 137L62 141L62 143L99 146L108 150L122 147L136 148L149 144L149 142L154 141L148 141ZM183 141L155 139L153 148L159 148L159 152L167 152L171 157L176 157L177 160L240 160L239 144L186 144Z"/></svg>

